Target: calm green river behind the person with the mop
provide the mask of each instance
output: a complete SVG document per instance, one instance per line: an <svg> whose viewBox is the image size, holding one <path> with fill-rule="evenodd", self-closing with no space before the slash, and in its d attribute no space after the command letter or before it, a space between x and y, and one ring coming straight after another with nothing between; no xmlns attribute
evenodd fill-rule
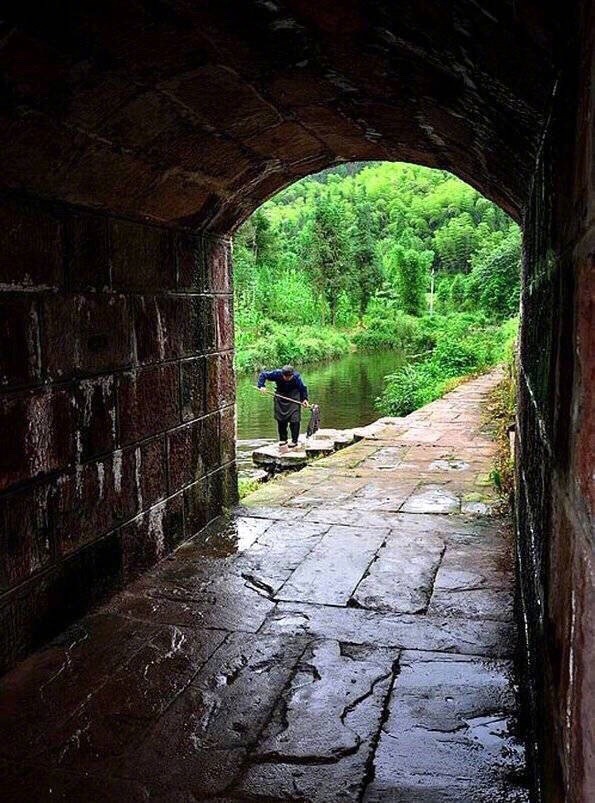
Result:
<svg viewBox="0 0 595 803"><path fill-rule="evenodd" d="M308 386L310 401L320 406L321 427L350 429L380 417L374 400L382 391L385 375L402 365L403 360L398 351L354 352L332 362L296 368ZM244 475L252 468L253 449L277 439L272 399L254 390L255 385L256 375L238 377L237 456L238 468ZM302 431L308 419L309 413L305 411Z"/></svg>

